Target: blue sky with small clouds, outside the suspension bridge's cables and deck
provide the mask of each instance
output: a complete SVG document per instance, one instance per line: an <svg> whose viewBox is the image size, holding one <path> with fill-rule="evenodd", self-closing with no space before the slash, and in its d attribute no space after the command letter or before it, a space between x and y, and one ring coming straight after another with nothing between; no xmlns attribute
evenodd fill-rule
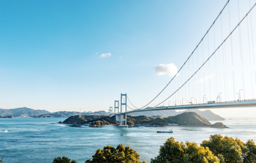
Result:
<svg viewBox="0 0 256 163"><path fill-rule="evenodd" d="M171 80L226 2L2 0L0 108L107 111L121 93L142 106ZM248 2L239 0L240 17ZM256 116L253 108L233 110L212 111Z"/></svg>

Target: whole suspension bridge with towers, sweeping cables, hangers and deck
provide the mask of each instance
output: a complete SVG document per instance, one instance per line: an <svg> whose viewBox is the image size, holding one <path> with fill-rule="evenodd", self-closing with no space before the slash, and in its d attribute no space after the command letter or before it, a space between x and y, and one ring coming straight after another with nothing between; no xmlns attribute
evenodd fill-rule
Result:
<svg viewBox="0 0 256 163"><path fill-rule="evenodd" d="M156 110L256 107L256 2L228 0L181 68L155 98L136 107L127 94L109 114ZM114 110L113 110L114 109Z"/></svg>

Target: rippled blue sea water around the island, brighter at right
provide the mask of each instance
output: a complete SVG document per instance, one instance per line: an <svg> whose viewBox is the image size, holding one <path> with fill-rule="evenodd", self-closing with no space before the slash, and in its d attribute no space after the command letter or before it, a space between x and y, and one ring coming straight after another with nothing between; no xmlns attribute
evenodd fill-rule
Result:
<svg viewBox="0 0 256 163"><path fill-rule="evenodd" d="M79 163L92 158L96 149L118 144L129 145L140 154L140 160L150 162L158 155L161 145L169 137L178 141L195 141L200 144L211 134L238 137L246 142L256 140L256 118L232 118L222 121L230 128L200 127L129 127L66 125L56 122L65 118L1 118L0 157L4 163L27 162L51 163L53 158L66 156ZM216 121L211 121L215 123ZM173 129L173 133L156 133L157 130Z"/></svg>

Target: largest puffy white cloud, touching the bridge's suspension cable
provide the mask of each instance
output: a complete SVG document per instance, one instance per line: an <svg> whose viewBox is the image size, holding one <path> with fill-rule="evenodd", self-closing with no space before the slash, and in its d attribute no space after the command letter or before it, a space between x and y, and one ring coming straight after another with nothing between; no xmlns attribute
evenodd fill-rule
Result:
<svg viewBox="0 0 256 163"><path fill-rule="evenodd" d="M167 75L173 77L174 75L177 74L178 68L173 63L167 64L167 65L160 64L160 65L155 66L155 72L158 75L167 74Z"/></svg>

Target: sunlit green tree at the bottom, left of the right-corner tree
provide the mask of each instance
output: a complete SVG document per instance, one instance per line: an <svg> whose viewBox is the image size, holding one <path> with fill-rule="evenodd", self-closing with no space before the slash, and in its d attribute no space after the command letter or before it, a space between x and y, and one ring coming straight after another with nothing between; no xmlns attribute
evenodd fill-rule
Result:
<svg viewBox="0 0 256 163"><path fill-rule="evenodd" d="M160 147L159 155L151 163L219 163L208 147L199 147L194 142L179 143L173 137Z"/></svg>

